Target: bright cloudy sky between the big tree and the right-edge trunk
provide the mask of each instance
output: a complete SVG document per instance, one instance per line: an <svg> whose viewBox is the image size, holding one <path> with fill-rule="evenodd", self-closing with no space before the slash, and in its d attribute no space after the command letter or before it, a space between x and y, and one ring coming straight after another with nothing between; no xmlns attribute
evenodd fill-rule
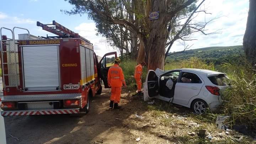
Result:
<svg viewBox="0 0 256 144"><path fill-rule="evenodd" d="M201 2L201 1L199 1ZM191 49L212 47L212 46L235 46L242 45L247 14L249 10L249 0L206 0L201 9L206 9L212 15L199 14L195 20L204 21L219 17L206 26L207 33L219 30L220 34L210 34L204 36L201 33L194 33L192 37L196 41L186 41L186 44L192 45ZM175 42L171 49L173 51L182 50L179 42Z"/></svg>

